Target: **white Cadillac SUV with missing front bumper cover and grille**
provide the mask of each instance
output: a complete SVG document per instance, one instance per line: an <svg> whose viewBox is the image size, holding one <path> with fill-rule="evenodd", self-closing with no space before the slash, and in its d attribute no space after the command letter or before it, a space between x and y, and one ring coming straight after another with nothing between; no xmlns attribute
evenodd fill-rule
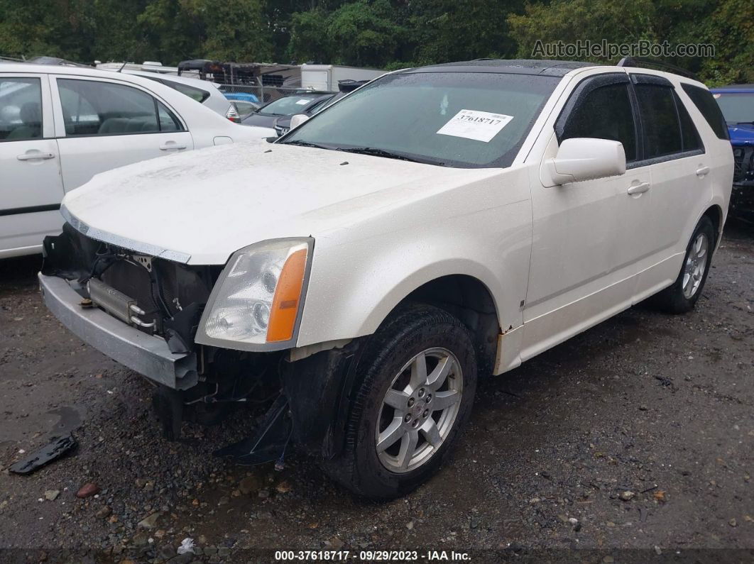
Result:
<svg viewBox="0 0 754 564"><path fill-rule="evenodd" d="M500 374L703 291L733 156L703 84L638 66L406 69L273 144L105 172L45 239L44 300L158 384L167 437L269 398L217 454L288 441L359 495L443 461Z"/></svg>

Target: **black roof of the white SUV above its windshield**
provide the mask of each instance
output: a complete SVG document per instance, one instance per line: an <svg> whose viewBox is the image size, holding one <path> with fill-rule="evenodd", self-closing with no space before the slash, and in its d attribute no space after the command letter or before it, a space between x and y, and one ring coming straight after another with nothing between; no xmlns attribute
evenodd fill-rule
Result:
<svg viewBox="0 0 754 564"><path fill-rule="evenodd" d="M573 69L599 66L593 62L555 61L550 59L474 59L422 66L403 72L489 72L508 75L565 76Z"/></svg>

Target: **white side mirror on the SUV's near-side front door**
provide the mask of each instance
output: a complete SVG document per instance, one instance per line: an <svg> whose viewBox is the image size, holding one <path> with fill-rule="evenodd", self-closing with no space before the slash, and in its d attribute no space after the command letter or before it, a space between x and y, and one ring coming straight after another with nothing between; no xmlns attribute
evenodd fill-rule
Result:
<svg viewBox="0 0 754 564"><path fill-rule="evenodd" d="M548 168L556 184L619 176L626 172L626 151L619 141L566 139Z"/></svg>

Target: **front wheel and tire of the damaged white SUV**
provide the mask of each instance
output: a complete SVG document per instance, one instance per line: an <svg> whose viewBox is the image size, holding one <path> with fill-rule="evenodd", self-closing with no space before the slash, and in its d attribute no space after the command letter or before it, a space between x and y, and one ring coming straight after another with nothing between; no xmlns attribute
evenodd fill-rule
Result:
<svg viewBox="0 0 754 564"><path fill-rule="evenodd" d="M345 449L323 468L357 495L387 500L440 468L474 403L477 360L467 328L426 305L400 309L364 346Z"/></svg>

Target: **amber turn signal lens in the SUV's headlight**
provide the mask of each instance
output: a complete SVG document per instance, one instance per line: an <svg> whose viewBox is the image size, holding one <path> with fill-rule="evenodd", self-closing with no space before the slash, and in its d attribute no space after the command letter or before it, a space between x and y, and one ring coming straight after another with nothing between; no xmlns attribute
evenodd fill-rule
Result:
<svg viewBox="0 0 754 564"><path fill-rule="evenodd" d="M304 285L306 252L307 249L302 248L290 255L280 272L272 299L270 324L267 328L268 343L293 339L293 329L296 327L296 316L299 313L299 301Z"/></svg>

